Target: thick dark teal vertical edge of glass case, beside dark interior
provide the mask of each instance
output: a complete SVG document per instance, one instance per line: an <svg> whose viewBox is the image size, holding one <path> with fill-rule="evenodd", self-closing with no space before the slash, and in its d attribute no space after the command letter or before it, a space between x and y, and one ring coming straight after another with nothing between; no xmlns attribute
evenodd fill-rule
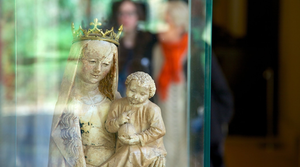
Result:
<svg viewBox="0 0 300 167"><path fill-rule="evenodd" d="M211 39L212 0L206 0L205 36ZM210 92L211 92L211 40L205 42L205 76L204 76L204 166L210 166Z"/></svg>

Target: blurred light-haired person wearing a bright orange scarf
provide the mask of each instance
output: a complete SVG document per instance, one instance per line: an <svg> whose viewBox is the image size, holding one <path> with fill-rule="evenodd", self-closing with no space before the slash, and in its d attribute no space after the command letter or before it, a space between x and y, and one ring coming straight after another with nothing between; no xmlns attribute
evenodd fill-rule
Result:
<svg viewBox="0 0 300 167"><path fill-rule="evenodd" d="M161 108L167 131L164 136L167 166L186 166L187 3L168 1L164 19L169 29L158 34L159 43L152 57L158 95L155 104Z"/></svg>

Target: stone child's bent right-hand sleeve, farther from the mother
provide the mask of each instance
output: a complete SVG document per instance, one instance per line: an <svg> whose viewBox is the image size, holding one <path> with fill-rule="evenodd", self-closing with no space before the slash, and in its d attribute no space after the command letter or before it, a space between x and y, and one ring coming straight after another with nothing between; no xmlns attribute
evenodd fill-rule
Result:
<svg viewBox="0 0 300 167"><path fill-rule="evenodd" d="M164 121L161 117L161 109L155 105L151 107L148 112L148 122L150 128L141 132L139 138L142 146L147 145L166 134Z"/></svg>

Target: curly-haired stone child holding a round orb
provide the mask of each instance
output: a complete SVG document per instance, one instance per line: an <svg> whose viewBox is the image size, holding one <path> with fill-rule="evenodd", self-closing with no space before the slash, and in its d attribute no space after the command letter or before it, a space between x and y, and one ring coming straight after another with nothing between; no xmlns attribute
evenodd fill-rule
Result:
<svg viewBox="0 0 300 167"><path fill-rule="evenodd" d="M127 97L113 102L105 122L108 132L122 132L116 153L102 166L165 166L166 130L160 108L149 100L155 94L154 81L145 72L135 72L125 85Z"/></svg>

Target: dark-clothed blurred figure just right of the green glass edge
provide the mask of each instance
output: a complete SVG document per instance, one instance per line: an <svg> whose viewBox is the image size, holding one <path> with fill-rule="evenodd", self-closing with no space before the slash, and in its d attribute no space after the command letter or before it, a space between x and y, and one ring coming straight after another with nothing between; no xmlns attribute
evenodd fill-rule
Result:
<svg viewBox="0 0 300 167"><path fill-rule="evenodd" d="M233 115L233 96L214 52L211 53L211 167L224 167L224 142Z"/></svg>

